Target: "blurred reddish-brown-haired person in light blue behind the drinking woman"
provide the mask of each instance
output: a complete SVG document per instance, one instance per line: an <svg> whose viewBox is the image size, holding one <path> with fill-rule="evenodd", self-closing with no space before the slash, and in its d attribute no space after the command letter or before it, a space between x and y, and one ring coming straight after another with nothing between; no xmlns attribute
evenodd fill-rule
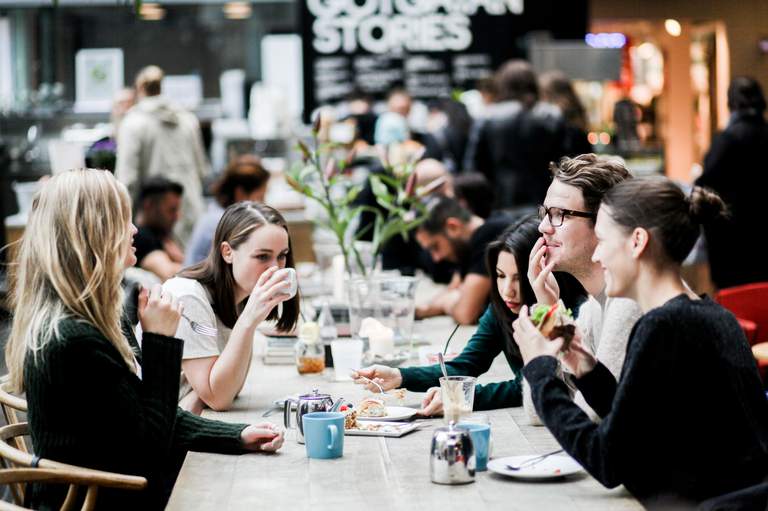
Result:
<svg viewBox="0 0 768 511"><path fill-rule="evenodd" d="M215 200L195 224L187 246L184 266L199 263L208 256L213 233L224 210L244 200L264 202L268 182L269 172L264 169L257 156L246 154L232 160L223 175L211 186Z"/></svg>

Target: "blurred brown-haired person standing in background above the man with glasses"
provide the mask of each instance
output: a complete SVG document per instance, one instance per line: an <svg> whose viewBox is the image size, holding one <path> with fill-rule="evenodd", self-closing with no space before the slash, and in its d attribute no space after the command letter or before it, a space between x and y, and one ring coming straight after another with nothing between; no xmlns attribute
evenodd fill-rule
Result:
<svg viewBox="0 0 768 511"><path fill-rule="evenodd" d="M565 119L565 156L592 152L587 140L587 112L562 71L550 71L539 80L541 99L556 105Z"/></svg>

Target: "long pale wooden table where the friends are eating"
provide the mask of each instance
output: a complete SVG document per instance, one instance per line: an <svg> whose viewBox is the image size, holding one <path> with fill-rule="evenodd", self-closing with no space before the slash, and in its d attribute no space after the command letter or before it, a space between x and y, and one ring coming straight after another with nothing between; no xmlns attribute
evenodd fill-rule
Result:
<svg viewBox="0 0 768 511"><path fill-rule="evenodd" d="M415 331L435 345L452 330L449 318L416 323ZM461 327L451 351L466 343L474 327ZM258 350L259 347L256 347ZM413 363L417 363L416 360ZM503 357L494 361L480 382L511 375ZM361 399L367 393L352 383L331 381L333 370L301 376L293 366L265 366L258 357L232 410L207 410L204 416L231 422L282 422L262 413L275 399L313 388L334 399ZM416 406L423 394L408 393L406 404ZM485 412L484 412L485 413ZM539 454L558 448L546 428L531 426L522 408L487 412L493 435L493 457ZM534 509L635 510L642 506L623 488L607 490L589 475L545 483L523 482L478 472L475 482L462 486L433 484L429 478L432 431L441 419L401 438L347 436L344 456L336 460L310 460L304 445L289 431L275 455L227 456L191 452L187 455L167 509L170 510L445 510Z"/></svg>

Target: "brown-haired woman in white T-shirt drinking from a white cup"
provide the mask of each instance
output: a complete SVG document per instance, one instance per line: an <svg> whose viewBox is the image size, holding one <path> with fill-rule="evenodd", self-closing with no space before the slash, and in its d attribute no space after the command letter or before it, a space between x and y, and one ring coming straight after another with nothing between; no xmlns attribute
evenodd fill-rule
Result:
<svg viewBox="0 0 768 511"><path fill-rule="evenodd" d="M176 331L184 339L182 408L195 413L204 406L228 409L248 374L256 327L264 320L277 320L283 332L296 326L293 266L282 215L246 201L224 211L208 258L163 284L184 305L185 318Z"/></svg>

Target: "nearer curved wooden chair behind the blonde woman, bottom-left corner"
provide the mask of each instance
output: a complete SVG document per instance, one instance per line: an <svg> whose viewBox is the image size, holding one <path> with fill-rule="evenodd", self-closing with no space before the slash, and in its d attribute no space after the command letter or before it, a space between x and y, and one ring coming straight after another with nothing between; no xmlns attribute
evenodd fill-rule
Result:
<svg viewBox="0 0 768 511"><path fill-rule="evenodd" d="M104 472L37 458L11 445L12 440L28 434L29 424L26 422L0 428L0 458L6 466L10 467L0 470L0 484L10 485L16 503L16 507L0 506L0 510L25 509L18 505L24 502L25 483L30 482L69 484L66 499L61 507L62 511L73 509L80 486L87 488L81 510L94 508L99 487L142 490L147 486L147 480L143 477Z"/></svg>

